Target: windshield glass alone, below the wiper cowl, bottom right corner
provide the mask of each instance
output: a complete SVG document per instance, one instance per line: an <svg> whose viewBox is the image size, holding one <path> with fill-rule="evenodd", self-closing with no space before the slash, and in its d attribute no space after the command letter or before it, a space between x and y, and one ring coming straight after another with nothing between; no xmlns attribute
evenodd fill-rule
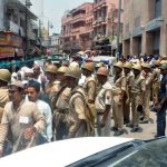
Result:
<svg viewBox="0 0 167 167"><path fill-rule="evenodd" d="M167 166L167 139L150 141L137 150L124 154L119 155L116 163L109 167L165 167Z"/></svg>

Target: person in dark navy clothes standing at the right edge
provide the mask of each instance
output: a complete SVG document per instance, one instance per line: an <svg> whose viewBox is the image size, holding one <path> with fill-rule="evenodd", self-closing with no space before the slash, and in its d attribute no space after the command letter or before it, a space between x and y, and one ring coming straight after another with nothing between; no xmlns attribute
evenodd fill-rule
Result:
<svg viewBox="0 0 167 167"><path fill-rule="evenodd" d="M163 75L160 88L158 91L157 109L157 135L156 137L165 136L166 129L166 110L167 110L167 63L160 66Z"/></svg>

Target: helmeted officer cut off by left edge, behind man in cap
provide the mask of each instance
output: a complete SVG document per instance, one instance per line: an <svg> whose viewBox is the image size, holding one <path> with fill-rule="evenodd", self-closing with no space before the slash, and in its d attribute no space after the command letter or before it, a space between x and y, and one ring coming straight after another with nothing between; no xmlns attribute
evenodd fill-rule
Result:
<svg viewBox="0 0 167 167"><path fill-rule="evenodd" d="M0 69L0 122L3 115L3 108L9 100L8 82L11 80L11 73L8 69Z"/></svg>

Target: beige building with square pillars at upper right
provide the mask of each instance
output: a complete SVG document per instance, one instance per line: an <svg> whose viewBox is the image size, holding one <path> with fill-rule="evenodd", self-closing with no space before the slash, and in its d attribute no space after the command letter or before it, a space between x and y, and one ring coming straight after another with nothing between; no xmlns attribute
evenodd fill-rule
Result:
<svg viewBox="0 0 167 167"><path fill-rule="evenodd" d="M124 55L167 55L167 0L125 0Z"/></svg>

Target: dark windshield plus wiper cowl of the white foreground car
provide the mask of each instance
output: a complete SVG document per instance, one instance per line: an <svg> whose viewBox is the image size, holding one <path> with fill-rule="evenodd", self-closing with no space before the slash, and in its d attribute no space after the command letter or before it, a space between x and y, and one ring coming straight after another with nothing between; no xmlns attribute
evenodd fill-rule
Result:
<svg viewBox="0 0 167 167"><path fill-rule="evenodd" d="M79 160L69 167L165 167L167 138L144 143L132 140Z"/></svg>

